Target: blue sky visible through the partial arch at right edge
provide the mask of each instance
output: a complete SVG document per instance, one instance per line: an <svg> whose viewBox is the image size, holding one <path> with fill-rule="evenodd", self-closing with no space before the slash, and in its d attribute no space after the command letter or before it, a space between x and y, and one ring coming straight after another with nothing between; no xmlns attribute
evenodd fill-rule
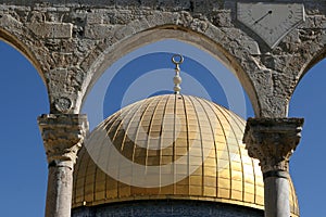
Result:
<svg viewBox="0 0 326 217"><path fill-rule="evenodd" d="M304 181L304 175L300 171L305 169L310 170L310 177L318 177L321 170L324 169L324 151L322 150L322 141L324 138L325 127L325 78L326 74L324 72L326 65L325 54L319 53L315 56L313 64L305 68L305 73L301 77L300 84L296 87L291 101L289 103L291 117L304 117L304 125L302 130L302 138L299 144L299 150L296 151L291 163L291 176L296 182L296 188L298 189L298 197L302 199L300 204L301 216L305 216L311 213L308 212L304 206L304 201L315 201L315 205L318 206L321 197L326 192L326 187L323 180L317 180L315 186L317 190L313 190L306 186ZM316 151L318 150L318 151ZM304 159L311 161L304 161ZM313 169L311 169L313 168ZM321 182L321 183L318 183ZM300 200L299 200L300 202ZM322 203L322 202L321 202ZM302 212L303 210L303 212ZM318 215L317 215L318 213ZM324 216L325 210L318 210L317 216ZM323 215L324 214L324 215Z"/></svg>

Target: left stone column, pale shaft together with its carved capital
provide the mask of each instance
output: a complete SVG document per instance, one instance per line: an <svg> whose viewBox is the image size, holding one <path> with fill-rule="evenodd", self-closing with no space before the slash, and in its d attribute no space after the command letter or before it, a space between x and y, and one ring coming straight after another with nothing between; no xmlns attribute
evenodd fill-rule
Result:
<svg viewBox="0 0 326 217"><path fill-rule="evenodd" d="M46 114L38 125L49 163L46 217L70 217L74 164L88 130L87 117Z"/></svg>

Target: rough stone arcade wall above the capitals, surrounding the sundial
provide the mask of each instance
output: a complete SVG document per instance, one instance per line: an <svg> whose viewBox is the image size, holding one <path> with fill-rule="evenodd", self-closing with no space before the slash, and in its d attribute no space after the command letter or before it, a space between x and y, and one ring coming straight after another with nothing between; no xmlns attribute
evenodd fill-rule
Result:
<svg viewBox="0 0 326 217"><path fill-rule="evenodd" d="M211 41L216 55L237 73L256 116L285 117L300 78L326 56L326 3L303 4L305 22L274 49L237 21L236 0L1 0L0 37L34 63L48 87L53 113L79 112L82 99L102 67L112 64L105 63L113 60L112 53L121 52L122 41L173 28L196 35L197 43ZM55 105L62 98L72 101L68 108Z"/></svg>

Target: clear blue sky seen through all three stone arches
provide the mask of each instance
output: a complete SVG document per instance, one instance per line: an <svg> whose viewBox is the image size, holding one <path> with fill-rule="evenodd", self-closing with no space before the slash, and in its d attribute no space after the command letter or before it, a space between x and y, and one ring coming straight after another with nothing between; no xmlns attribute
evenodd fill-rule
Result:
<svg viewBox="0 0 326 217"><path fill-rule="evenodd" d="M106 71L85 103L84 112L89 115L91 126L133 100L171 91L174 66L170 62L170 52L183 52L186 56L181 65L184 93L205 97L230 106L242 116L252 116L250 104L248 101L246 104L242 94L238 94L239 84L222 64L195 47L165 41L141 48ZM33 65L2 41L0 63L1 215L43 216L47 161L37 116L49 113L48 95ZM291 158L290 168L303 217L326 216L326 209L321 208L326 193L326 175L323 173L326 153L323 143L326 129L325 68L326 60L314 66L301 80L290 103L289 116L305 118L303 137ZM129 82L122 81L125 77L129 78ZM218 81L231 82L231 88ZM120 92L112 94L106 90ZM102 98L93 98L99 94ZM97 106L90 106L99 99L102 101ZM241 102L239 106L237 102ZM100 112L89 114L90 111Z"/></svg>

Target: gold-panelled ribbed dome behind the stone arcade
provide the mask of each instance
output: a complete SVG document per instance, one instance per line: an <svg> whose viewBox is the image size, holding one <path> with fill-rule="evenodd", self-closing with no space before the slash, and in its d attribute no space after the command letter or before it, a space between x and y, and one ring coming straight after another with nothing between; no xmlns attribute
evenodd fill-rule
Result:
<svg viewBox="0 0 326 217"><path fill-rule="evenodd" d="M244 150L244 125L196 97L166 94L128 105L102 122L78 153L73 207L184 199L263 209L262 173ZM291 181L290 189L291 213L299 216Z"/></svg>

